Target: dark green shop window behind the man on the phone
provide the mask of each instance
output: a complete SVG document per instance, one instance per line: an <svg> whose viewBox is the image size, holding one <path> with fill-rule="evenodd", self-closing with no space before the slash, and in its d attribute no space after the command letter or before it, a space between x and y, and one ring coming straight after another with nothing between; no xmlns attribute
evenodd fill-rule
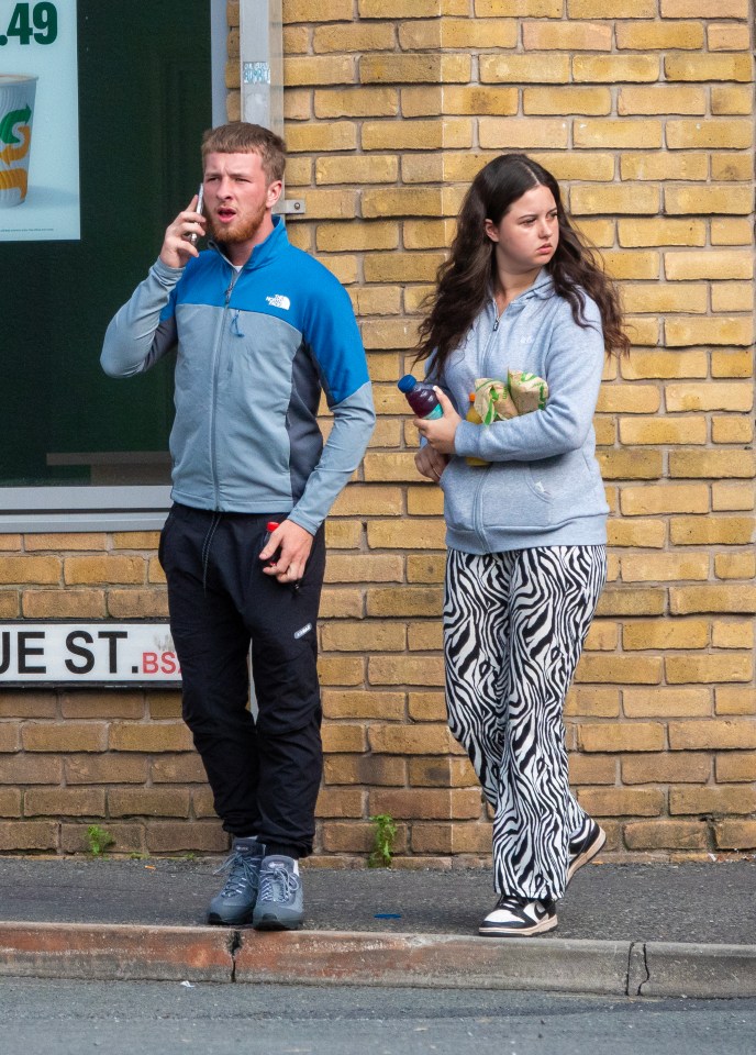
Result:
<svg viewBox="0 0 756 1055"><path fill-rule="evenodd" d="M113 380L99 355L108 322L201 178L218 4L58 0L15 8L29 9L31 30L52 11L77 11L80 237L18 240L3 233L10 210L0 207L0 521L19 530L24 511L30 526L46 511L49 530L66 511L167 501L173 363ZM11 67L24 52L16 37L0 47L0 74L19 73ZM45 98L49 88L40 84L37 106ZM42 129L40 121L32 131ZM34 147L32 135L30 195L13 207L16 216L33 209Z"/></svg>

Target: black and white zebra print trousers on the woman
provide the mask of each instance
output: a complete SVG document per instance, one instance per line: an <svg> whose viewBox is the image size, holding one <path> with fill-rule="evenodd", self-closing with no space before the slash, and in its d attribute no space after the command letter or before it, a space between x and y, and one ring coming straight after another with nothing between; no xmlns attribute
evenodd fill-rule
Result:
<svg viewBox="0 0 756 1055"><path fill-rule="evenodd" d="M498 893L560 898L587 815L569 790L563 710L607 577L604 546L449 549L449 729L493 810Z"/></svg>

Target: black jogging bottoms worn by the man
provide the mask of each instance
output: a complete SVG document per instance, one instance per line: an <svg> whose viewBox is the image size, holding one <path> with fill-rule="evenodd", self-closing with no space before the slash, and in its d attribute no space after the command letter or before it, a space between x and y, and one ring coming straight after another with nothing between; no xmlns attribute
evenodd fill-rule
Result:
<svg viewBox="0 0 756 1055"><path fill-rule="evenodd" d="M323 752L316 619L325 568L321 528L298 587L262 570L268 521L175 504L160 536L184 719L232 835L271 853L312 851ZM247 707L248 654L257 717Z"/></svg>

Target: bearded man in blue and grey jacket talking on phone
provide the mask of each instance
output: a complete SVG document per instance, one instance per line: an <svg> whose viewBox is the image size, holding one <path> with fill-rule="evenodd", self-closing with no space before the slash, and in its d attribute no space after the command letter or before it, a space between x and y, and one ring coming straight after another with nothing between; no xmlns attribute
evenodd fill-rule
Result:
<svg viewBox="0 0 756 1055"><path fill-rule="evenodd" d="M209 922L290 930L302 922L298 860L312 849L322 773L323 521L375 412L346 292L271 213L284 142L237 121L205 133L202 157L204 214L194 198L169 225L101 362L130 377L176 351L175 504L159 557L184 718L233 836ZM191 236L205 231L200 253ZM334 418L325 446L321 390Z"/></svg>

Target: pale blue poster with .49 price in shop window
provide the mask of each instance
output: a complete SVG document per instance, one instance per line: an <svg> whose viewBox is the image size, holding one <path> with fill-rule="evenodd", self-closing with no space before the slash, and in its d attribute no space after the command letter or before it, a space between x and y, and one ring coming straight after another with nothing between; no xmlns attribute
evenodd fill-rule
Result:
<svg viewBox="0 0 756 1055"><path fill-rule="evenodd" d="M76 0L0 0L0 242L81 236Z"/></svg>

